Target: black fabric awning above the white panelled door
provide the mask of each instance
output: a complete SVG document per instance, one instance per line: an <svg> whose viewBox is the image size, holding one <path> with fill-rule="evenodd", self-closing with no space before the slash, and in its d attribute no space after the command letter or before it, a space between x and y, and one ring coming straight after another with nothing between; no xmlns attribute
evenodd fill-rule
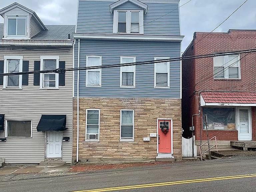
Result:
<svg viewBox="0 0 256 192"><path fill-rule="evenodd" d="M66 115L42 115L36 127L40 131L64 131L66 130Z"/></svg>

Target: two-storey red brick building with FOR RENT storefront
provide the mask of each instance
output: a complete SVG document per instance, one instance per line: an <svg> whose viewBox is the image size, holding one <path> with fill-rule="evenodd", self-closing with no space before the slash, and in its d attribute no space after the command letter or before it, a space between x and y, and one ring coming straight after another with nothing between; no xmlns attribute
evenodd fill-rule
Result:
<svg viewBox="0 0 256 192"><path fill-rule="evenodd" d="M207 34L195 32L183 56L256 48L256 30ZM256 141L255 60L256 53L250 52L182 62L184 137L194 135L197 146L204 143L207 114L209 138L216 136L220 148L228 148L230 141Z"/></svg>

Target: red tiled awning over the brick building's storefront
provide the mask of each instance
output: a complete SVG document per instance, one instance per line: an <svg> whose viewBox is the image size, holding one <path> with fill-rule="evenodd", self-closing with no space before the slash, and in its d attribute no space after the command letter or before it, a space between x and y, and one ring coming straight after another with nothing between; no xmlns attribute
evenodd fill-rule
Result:
<svg viewBox="0 0 256 192"><path fill-rule="evenodd" d="M256 92L201 92L201 106L256 106Z"/></svg>

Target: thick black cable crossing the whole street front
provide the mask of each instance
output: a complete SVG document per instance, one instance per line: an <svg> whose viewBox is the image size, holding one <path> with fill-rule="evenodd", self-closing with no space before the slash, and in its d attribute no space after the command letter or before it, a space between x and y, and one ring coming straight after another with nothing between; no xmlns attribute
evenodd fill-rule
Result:
<svg viewBox="0 0 256 192"><path fill-rule="evenodd" d="M247 49L240 51L231 51L231 52L220 52L220 53L212 53L212 54L204 54L204 55L192 55L186 57L176 57L172 59L161 59L161 60L150 60L143 62L131 62L131 63L123 63L123 64L115 64L115 65L98 65L92 67L80 67L80 68L67 68L67 69L54 69L54 70L41 70L41 71L28 71L28 72L17 72L17 73L2 73L0 76L11 76L11 75L26 75L26 74L36 74L36 73L65 73L66 71L79 71L79 70L90 70L90 69L104 69L104 68L114 68L114 67L125 67L125 66L133 66L133 65L145 65L152 63L163 63L163 62L173 62L173 61L181 61L188 59L200 59L200 58L209 58L209 57L217 57L224 55L233 55L233 54L242 54L242 53L252 53L256 52L255 49Z"/></svg>

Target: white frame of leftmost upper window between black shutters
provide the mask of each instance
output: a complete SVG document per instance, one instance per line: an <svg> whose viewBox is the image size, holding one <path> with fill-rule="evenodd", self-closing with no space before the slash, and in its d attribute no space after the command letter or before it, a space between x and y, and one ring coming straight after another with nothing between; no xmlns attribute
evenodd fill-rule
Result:
<svg viewBox="0 0 256 192"><path fill-rule="evenodd" d="M22 72L23 66L23 56L4 56L4 73L8 73L8 60L20 60L19 72ZM5 89L22 89L22 75L19 75L19 86L17 87L8 87L7 85L8 76L4 76L3 88Z"/></svg>

